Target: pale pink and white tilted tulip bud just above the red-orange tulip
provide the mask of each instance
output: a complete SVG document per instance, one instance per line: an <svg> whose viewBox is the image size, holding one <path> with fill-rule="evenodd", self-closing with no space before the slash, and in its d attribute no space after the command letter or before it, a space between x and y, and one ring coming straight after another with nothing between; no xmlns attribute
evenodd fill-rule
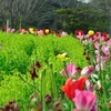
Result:
<svg viewBox="0 0 111 111"><path fill-rule="evenodd" d="M94 71L94 67L93 65L88 65L88 67L84 67L81 71L81 75L85 75L85 77L89 77L92 74L92 72Z"/></svg>

